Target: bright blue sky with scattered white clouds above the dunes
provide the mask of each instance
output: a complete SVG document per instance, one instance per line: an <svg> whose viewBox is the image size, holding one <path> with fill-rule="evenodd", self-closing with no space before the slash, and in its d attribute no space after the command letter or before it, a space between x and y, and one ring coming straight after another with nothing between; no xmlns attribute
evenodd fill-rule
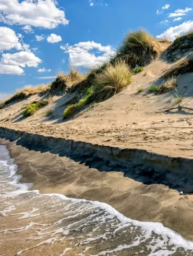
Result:
<svg viewBox="0 0 193 256"><path fill-rule="evenodd" d="M69 65L87 72L129 30L175 40L193 29L193 0L0 0L0 94L46 84Z"/></svg>

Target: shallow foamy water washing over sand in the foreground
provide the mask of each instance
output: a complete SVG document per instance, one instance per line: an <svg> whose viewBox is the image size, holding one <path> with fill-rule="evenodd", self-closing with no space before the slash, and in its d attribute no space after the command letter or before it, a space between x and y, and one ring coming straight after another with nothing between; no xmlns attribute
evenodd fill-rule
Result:
<svg viewBox="0 0 193 256"><path fill-rule="evenodd" d="M193 255L160 223L126 218L110 205L29 191L0 145L0 255Z"/></svg>

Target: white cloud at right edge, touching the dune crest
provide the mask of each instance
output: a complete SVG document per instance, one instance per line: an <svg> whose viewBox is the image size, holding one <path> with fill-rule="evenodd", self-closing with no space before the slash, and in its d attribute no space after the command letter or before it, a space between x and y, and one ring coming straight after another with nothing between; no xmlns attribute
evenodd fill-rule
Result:
<svg viewBox="0 0 193 256"><path fill-rule="evenodd" d="M169 40L173 41L175 40L176 36L179 36L180 34L186 33L189 30L193 29L193 21L185 21L183 24L180 24L179 26L170 27L165 32L157 36L158 39L164 39L168 38Z"/></svg>

